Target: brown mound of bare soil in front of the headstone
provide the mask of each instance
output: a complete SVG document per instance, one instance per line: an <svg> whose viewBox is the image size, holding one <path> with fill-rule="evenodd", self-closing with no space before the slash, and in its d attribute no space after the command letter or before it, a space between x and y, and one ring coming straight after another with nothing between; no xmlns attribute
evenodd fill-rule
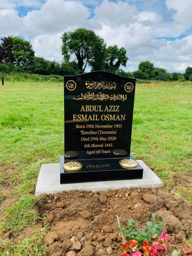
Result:
<svg viewBox="0 0 192 256"><path fill-rule="evenodd" d="M172 244L184 243L192 234L192 205L162 189L111 189L65 191L40 195L39 207L50 226L45 236L47 255L118 256L122 238L116 216L144 226L155 212L164 222Z"/></svg>

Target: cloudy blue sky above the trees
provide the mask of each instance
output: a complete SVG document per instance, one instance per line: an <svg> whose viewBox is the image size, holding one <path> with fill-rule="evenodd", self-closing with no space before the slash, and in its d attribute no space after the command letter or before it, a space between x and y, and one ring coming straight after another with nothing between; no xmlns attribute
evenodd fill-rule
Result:
<svg viewBox="0 0 192 256"><path fill-rule="evenodd" d="M0 0L0 36L30 40L36 56L62 61L61 35L93 29L127 50L126 71L150 60L168 72L192 67L191 0Z"/></svg>

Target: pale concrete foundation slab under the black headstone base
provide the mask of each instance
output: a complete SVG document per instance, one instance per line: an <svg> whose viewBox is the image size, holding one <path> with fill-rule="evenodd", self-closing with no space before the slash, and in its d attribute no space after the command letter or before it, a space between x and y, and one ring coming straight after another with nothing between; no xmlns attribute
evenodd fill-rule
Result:
<svg viewBox="0 0 192 256"><path fill-rule="evenodd" d="M110 180L97 182L82 182L72 184L60 184L60 163L42 164L35 189L35 195L42 193L58 193L68 190L100 191L120 188L155 188L163 186L163 182L141 160L137 160L143 168L143 179L134 180Z"/></svg>

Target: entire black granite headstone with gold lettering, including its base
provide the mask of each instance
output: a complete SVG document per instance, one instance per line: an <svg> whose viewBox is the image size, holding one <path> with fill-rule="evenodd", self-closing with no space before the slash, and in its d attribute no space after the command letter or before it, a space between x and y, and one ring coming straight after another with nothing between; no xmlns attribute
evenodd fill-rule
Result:
<svg viewBox="0 0 192 256"><path fill-rule="evenodd" d="M139 164L123 168L119 163L121 159L133 159L130 150L135 84L135 79L104 71L64 76L65 156L61 156L61 184L142 179ZM68 172L63 164L69 161L83 167Z"/></svg>

